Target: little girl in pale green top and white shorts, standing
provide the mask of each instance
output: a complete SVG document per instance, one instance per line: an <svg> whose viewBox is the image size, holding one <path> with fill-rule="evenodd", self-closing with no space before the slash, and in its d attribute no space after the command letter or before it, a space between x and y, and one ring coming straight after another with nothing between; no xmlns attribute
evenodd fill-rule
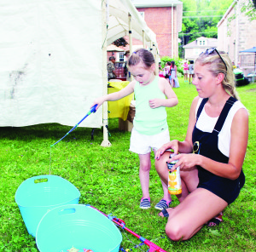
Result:
<svg viewBox="0 0 256 252"><path fill-rule="evenodd" d="M107 94L94 100L96 109L107 100L119 100L135 93L136 115L131 131L130 151L138 154L140 160L139 177L143 191L140 208L150 208L149 170L151 168L150 152L154 153L170 140L166 121L166 106L176 106L177 96L170 84L163 77L154 74L154 55L146 49L138 49L128 60L128 68L135 78L125 89ZM166 99L167 97L167 99ZM162 182L164 197L155 205L156 209L166 209L172 202L166 184Z"/></svg>

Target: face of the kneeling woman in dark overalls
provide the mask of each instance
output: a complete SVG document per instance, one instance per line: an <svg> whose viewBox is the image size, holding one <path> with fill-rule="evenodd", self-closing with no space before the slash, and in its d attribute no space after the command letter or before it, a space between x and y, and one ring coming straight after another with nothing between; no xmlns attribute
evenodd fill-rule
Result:
<svg viewBox="0 0 256 252"><path fill-rule="evenodd" d="M196 91L201 98L210 97L217 88L217 77L208 71L208 66L202 66L200 63L195 63L192 83L195 85Z"/></svg>

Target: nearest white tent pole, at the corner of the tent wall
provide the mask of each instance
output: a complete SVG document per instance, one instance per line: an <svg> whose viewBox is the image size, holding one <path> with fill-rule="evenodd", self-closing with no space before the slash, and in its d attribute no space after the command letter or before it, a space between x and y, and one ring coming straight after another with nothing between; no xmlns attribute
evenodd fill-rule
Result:
<svg viewBox="0 0 256 252"><path fill-rule="evenodd" d="M108 1L108 0L107 0ZM108 77L107 77L107 18L106 17L106 0L102 1L102 93L108 94ZM104 102L103 106L103 141L101 146L108 147L111 143L108 140L108 102Z"/></svg>

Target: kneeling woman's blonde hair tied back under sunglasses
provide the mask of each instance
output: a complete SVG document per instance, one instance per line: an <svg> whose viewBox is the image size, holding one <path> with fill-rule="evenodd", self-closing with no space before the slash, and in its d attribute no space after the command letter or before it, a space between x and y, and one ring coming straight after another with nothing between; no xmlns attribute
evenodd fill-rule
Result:
<svg viewBox="0 0 256 252"><path fill-rule="evenodd" d="M218 53L221 55L222 59L219 57ZM199 63L202 66L207 65L208 71L212 72L212 75L217 77L219 73L224 74L224 80L222 82L222 86L225 91L230 94L230 96L239 100L239 96L236 93L236 78L233 72L233 65L230 60L228 54L225 54L223 51L216 52L216 50L212 51L211 54L202 53L195 60L195 63ZM227 66L225 66L224 65Z"/></svg>

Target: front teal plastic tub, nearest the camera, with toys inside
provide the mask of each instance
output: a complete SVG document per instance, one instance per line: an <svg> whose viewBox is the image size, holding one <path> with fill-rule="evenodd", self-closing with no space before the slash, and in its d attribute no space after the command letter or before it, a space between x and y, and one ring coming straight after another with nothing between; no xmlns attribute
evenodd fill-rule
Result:
<svg viewBox="0 0 256 252"><path fill-rule="evenodd" d="M40 252L71 248L93 252L118 252L122 236L108 217L83 204L51 209L38 225L36 242Z"/></svg>

